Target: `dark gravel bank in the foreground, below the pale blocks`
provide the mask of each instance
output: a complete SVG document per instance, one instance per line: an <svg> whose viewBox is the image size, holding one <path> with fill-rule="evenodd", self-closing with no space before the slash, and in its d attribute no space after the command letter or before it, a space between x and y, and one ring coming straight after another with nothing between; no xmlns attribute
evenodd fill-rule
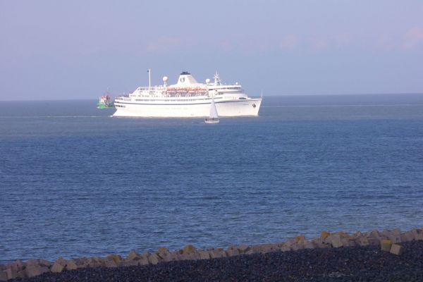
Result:
<svg viewBox="0 0 423 282"><path fill-rule="evenodd" d="M341 247L78 269L25 281L423 281L423 241L402 245L401 256L381 252L378 246Z"/></svg>

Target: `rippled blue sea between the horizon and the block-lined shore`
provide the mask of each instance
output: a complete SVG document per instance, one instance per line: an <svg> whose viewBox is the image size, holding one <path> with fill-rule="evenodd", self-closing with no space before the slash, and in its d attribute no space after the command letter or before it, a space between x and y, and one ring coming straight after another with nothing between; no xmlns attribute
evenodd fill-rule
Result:
<svg viewBox="0 0 423 282"><path fill-rule="evenodd" d="M264 97L260 116L0 102L0 262L423 226L423 94Z"/></svg>

